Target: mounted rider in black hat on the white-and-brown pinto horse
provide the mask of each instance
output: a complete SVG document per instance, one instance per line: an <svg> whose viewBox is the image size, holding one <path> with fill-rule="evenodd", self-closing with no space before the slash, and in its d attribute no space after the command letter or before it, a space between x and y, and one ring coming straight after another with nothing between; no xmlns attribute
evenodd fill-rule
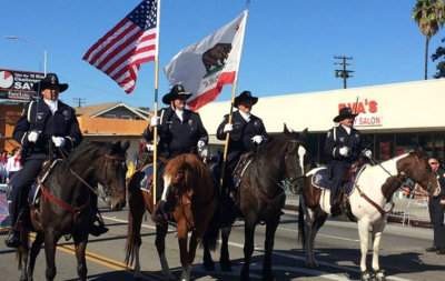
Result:
<svg viewBox="0 0 445 281"><path fill-rule="evenodd" d="M340 212L339 205L344 194L344 184L348 181L347 173L360 155L372 158L372 151L365 149L360 132L354 129L354 119L357 117L349 107L342 108L334 118L337 126L326 136L325 155L328 160L330 174L330 207L332 213Z"/></svg>

